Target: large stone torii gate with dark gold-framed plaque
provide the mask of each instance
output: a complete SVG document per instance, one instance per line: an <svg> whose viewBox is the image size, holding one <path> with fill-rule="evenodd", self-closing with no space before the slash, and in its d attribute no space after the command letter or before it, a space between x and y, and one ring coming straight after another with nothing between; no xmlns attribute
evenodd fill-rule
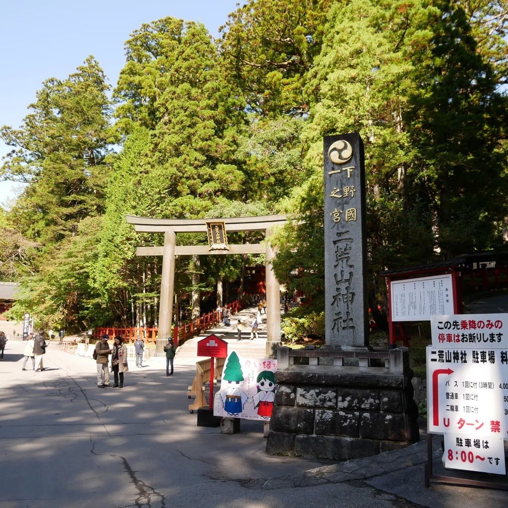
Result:
<svg viewBox="0 0 508 508"><path fill-rule="evenodd" d="M275 253L267 241L262 244L227 245L226 231L262 231L268 239L275 226L285 224L285 215L220 219L152 219L126 215L137 232L164 233L164 247L138 247L138 256L163 256L158 337L155 354L163 355L163 347L171 336L175 256L210 254L266 254L267 355L272 356L280 342L280 287L272 270ZM214 230L212 231L212 227ZM212 232L211 232L212 231ZM176 233L208 233L209 245L176 245ZM216 234L217 237L213 237Z"/></svg>

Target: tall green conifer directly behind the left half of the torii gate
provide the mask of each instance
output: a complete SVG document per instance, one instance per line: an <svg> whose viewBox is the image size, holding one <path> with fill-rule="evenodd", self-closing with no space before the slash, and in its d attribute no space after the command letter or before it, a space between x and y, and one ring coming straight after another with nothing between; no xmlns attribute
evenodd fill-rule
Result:
<svg viewBox="0 0 508 508"><path fill-rule="evenodd" d="M132 288L139 270L146 270L144 262L132 261L132 247L163 242L162 235L140 237L129 232L125 213L206 217L215 205L228 206L246 195L238 151L245 124L243 102L221 74L205 27L174 18L144 24L126 42L126 55L115 96L121 101L117 125L129 136L110 182L97 270L111 302L118 292ZM178 242L207 241L204 235L178 235ZM110 253L111 243L131 248ZM206 274L216 262L202 263L202 289L213 289ZM158 285L155 268L145 280L150 290ZM236 274L231 270L226 262L220 272ZM176 272L176 293L190 295L192 260L179 260Z"/></svg>

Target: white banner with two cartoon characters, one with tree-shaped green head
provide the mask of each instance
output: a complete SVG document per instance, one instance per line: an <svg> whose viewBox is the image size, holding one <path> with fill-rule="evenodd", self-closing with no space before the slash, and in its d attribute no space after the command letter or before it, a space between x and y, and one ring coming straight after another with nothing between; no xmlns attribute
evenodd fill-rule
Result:
<svg viewBox="0 0 508 508"><path fill-rule="evenodd" d="M220 390L214 397L213 415L269 421L276 371L276 360L243 358L232 351L224 365Z"/></svg>

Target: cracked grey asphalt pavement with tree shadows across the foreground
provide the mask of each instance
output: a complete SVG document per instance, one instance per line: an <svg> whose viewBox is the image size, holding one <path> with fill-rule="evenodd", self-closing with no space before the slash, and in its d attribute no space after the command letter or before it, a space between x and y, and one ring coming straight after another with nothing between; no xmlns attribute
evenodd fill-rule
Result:
<svg viewBox="0 0 508 508"><path fill-rule="evenodd" d="M497 508L508 501L501 490L425 488L425 440L331 462L267 455L261 422L242 420L232 436L197 427L186 396L195 370L178 365L178 356L174 376L166 377L164 358L142 369L130 362L123 389L101 390L89 358L53 342L47 370L23 372L22 351L9 341L0 362L0 508Z"/></svg>

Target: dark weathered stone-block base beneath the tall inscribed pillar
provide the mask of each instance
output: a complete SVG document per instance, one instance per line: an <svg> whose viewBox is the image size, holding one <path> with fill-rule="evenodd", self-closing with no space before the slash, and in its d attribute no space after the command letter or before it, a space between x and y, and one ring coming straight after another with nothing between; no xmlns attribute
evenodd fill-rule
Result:
<svg viewBox="0 0 508 508"><path fill-rule="evenodd" d="M346 460L420 439L406 348L282 347L277 356L268 453Z"/></svg>

